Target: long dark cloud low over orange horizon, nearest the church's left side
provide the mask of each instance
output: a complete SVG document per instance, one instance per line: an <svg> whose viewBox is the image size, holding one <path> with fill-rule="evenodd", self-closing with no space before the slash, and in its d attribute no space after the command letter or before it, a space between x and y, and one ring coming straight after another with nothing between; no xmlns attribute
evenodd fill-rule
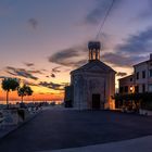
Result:
<svg viewBox="0 0 152 152"><path fill-rule="evenodd" d="M39 86L47 87L49 89L53 90L64 90L65 85L64 84L55 84L55 83L47 83L47 81L40 81Z"/></svg>

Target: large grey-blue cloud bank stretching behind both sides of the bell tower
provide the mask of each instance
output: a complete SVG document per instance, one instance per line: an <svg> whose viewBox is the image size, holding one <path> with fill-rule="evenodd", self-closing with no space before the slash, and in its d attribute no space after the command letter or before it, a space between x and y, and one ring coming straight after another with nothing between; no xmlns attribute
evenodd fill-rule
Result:
<svg viewBox="0 0 152 152"><path fill-rule="evenodd" d="M86 43L60 50L49 56L49 62L72 68L81 66L87 63L88 56L88 49L84 46L86 46ZM151 48L152 27L149 27L142 31L129 35L122 43L116 45L111 52L107 52L109 48L106 46L103 47L101 61L113 66L129 67L148 60Z"/></svg>

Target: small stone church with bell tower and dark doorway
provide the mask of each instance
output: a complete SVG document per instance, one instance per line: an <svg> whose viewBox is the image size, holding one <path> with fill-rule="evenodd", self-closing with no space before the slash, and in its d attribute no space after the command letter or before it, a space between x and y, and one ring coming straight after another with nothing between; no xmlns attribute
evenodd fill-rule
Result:
<svg viewBox="0 0 152 152"><path fill-rule="evenodd" d="M65 106L78 110L114 109L116 72L101 62L99 41L88 43L89 60L71 72L71 85L65 87Z"/></svg>

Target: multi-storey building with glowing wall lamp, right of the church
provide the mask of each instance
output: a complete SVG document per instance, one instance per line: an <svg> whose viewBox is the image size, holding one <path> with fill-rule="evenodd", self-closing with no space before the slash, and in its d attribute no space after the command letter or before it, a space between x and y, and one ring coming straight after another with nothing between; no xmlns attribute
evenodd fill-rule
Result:
<svg viewBox="0 0 152 152"><path fill-rule="evenodd" d="M134 74L119 79L119 93L152 92L152 54L148 61L134 65Z"/></svg>

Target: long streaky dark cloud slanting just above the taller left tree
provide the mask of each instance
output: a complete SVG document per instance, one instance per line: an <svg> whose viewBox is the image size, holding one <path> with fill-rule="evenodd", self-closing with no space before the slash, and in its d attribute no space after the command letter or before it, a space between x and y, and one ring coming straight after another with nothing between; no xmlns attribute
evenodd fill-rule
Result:
<svg viewBox="0 0 152 152"><path fill-rule="evenodd" d="M15 67L12 67L12 66L7 66L7 73L13 75L13 76L22 76L24 78L30 78L30 79L34 79L34 80L37 80L38 77L34 76L33 74L30 74L29 71L26 71L24 68L15 68Z"/></svg>

